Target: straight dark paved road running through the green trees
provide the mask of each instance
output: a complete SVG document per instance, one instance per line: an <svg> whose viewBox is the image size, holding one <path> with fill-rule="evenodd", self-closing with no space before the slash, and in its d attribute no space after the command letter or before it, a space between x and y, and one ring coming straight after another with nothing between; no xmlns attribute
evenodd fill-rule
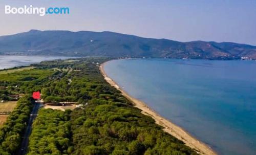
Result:
<svg viewBox="0 0 256 155"><path fill-rule="evenodd" d="M31 131L32 131L32 123L33 123L34 119L37 116L39 107L40 107L40 103L34 103L34 107L32 109L30 117L29 117L29 123L28 123L28 126L26 128L25 135L24 135L23 140L22 140L22 144L20 146L20 149L16 153L18 155L24 155L24 154L27 153L28 144L29 144L29 136L30 136Z"/></svg>

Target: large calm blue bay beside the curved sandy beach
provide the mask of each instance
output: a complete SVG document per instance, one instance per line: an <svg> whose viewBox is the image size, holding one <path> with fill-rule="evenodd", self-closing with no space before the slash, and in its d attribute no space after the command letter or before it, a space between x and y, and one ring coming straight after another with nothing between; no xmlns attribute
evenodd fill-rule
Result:
<svg viewBox="0 0 256 155"><path fill-rule="evenodd" d="M219 154L256 154L256 61L129 59L104 70Z"/></svg>

